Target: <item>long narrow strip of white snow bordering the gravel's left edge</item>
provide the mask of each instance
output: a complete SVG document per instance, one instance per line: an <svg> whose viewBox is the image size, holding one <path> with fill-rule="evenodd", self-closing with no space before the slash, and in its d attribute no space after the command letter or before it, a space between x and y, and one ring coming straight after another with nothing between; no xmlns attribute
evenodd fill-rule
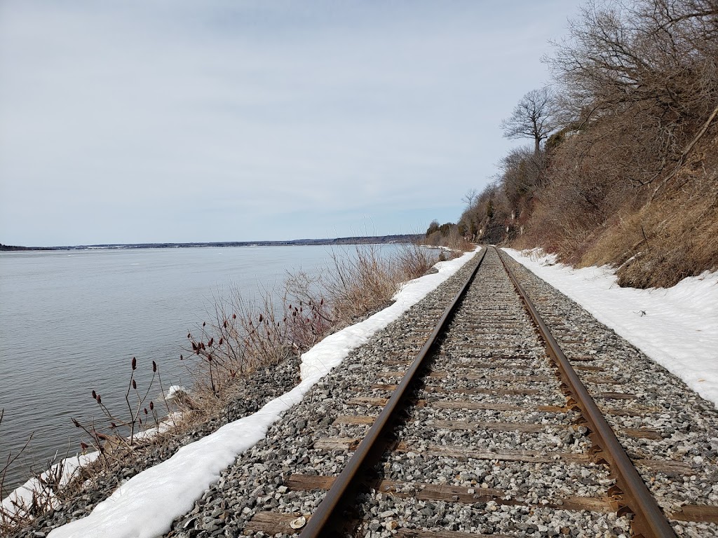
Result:
<svg viewBox="0 0 718 538"><path fill-rule="evenodd" d="M478 249L477 249L478 250ZM271 400L258 412L224 425L212 435L186 445L169 460L159 463L123 483L87 517L50 532L50 538L106 537L150 538L169 531L172 521L192 509L220 473L236 457L264 438L269 426L352 349L396 320L427 293L437 288L475 254L439 262L439 271L404 284L395 302L359 324L327 336L302 355L302 382L286 394Z"/></svg>

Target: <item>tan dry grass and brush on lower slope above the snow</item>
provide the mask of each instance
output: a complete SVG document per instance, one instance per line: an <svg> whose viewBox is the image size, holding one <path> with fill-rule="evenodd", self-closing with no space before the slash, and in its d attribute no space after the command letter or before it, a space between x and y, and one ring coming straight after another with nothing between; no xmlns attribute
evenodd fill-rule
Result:
<svg viewBox="0 0 718 538"><path fill-rule="evenodd" d="M613 265L618 283L635 288L666 288L718 269L718 137L696 146L648 201L651 192L642 202L625 202L605 222L586 222L568 204L538 204L531 229L512 246L543 247L581 267Z"/></svg>

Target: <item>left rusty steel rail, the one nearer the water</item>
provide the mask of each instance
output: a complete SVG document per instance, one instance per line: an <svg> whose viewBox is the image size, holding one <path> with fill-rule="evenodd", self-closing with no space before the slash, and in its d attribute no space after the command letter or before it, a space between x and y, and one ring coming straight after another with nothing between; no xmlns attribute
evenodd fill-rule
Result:
<svg viewBox="0 0 718 538"><path fill-rule="evenodd" d="M469 288L469 284L478 272L481 263L486 256L486 251L487 248L484 247L476 268L462 285L460 291L458 291L454 296L452 302L449 304L447 309L444 311L444 314L439 319L439 322L434 327L434 331L432 331L432 334L429 335L429 339L426 340L426 344L424 344L421 351L419 351L416 355L414 361L411 362L411 366L409 366L406 374L404 374L404 377L401 379L401 383L398 384L398 387L396 387L396 390L394 390L391 398L389 398L388 402L386 402L386 405L383 410L381 410L381 413L379 413L378 417L376 417L376 420L367 432L365 438L363 438L361 443L359 443L354 454L351 458L349 458L346 466L342 469L339 476L335 478L335 481L332 483L332 487L329 491L327 491L324 499L322 499L322 502L319 506L317 506L317 509L314 511L314 514L312 514L312 517L309 521L307 521L304 529L302 529L302 532L299 534L302 538L318 538L332 533L333 529L331 528L332 526L330 523L332 522L332 517L337 516L337 507L340 506L342 497L357 485L363 464L373 451L373 448L375 448L375 445L380 442L383 432L386 426L391 423L391 420L393 420L393 415L396 410L400 409L401 400L403 400L404 396L409 392L411 382L414 380L416 372L419 371L419 368L424 363L424 359L436 343L439 334L442 333L447 321L451 317L452 313L454 313L462 297L465 295L467 289Z"/></svg>

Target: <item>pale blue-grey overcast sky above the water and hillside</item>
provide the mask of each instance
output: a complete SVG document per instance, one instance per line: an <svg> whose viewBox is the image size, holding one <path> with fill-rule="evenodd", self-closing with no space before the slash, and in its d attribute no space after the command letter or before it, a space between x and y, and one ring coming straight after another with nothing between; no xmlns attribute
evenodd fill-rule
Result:
<svg viewBox="0 0 718 538"><path fill-rule="evenodd" d="M0 242L455 221L578 0L0 1Z"/></svg>

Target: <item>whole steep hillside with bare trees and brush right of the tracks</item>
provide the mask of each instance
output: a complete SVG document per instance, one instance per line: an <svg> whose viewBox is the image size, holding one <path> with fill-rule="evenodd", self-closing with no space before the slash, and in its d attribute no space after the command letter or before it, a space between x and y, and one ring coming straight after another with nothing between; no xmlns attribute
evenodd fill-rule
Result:
<svg viewBox="0 0 718 538"><path fill-rule="evenodd" d="M639 288L716 270L718 4L590 5L554 48L551 85L502 123L530 145L465 197L455 231Z"/></svg>

